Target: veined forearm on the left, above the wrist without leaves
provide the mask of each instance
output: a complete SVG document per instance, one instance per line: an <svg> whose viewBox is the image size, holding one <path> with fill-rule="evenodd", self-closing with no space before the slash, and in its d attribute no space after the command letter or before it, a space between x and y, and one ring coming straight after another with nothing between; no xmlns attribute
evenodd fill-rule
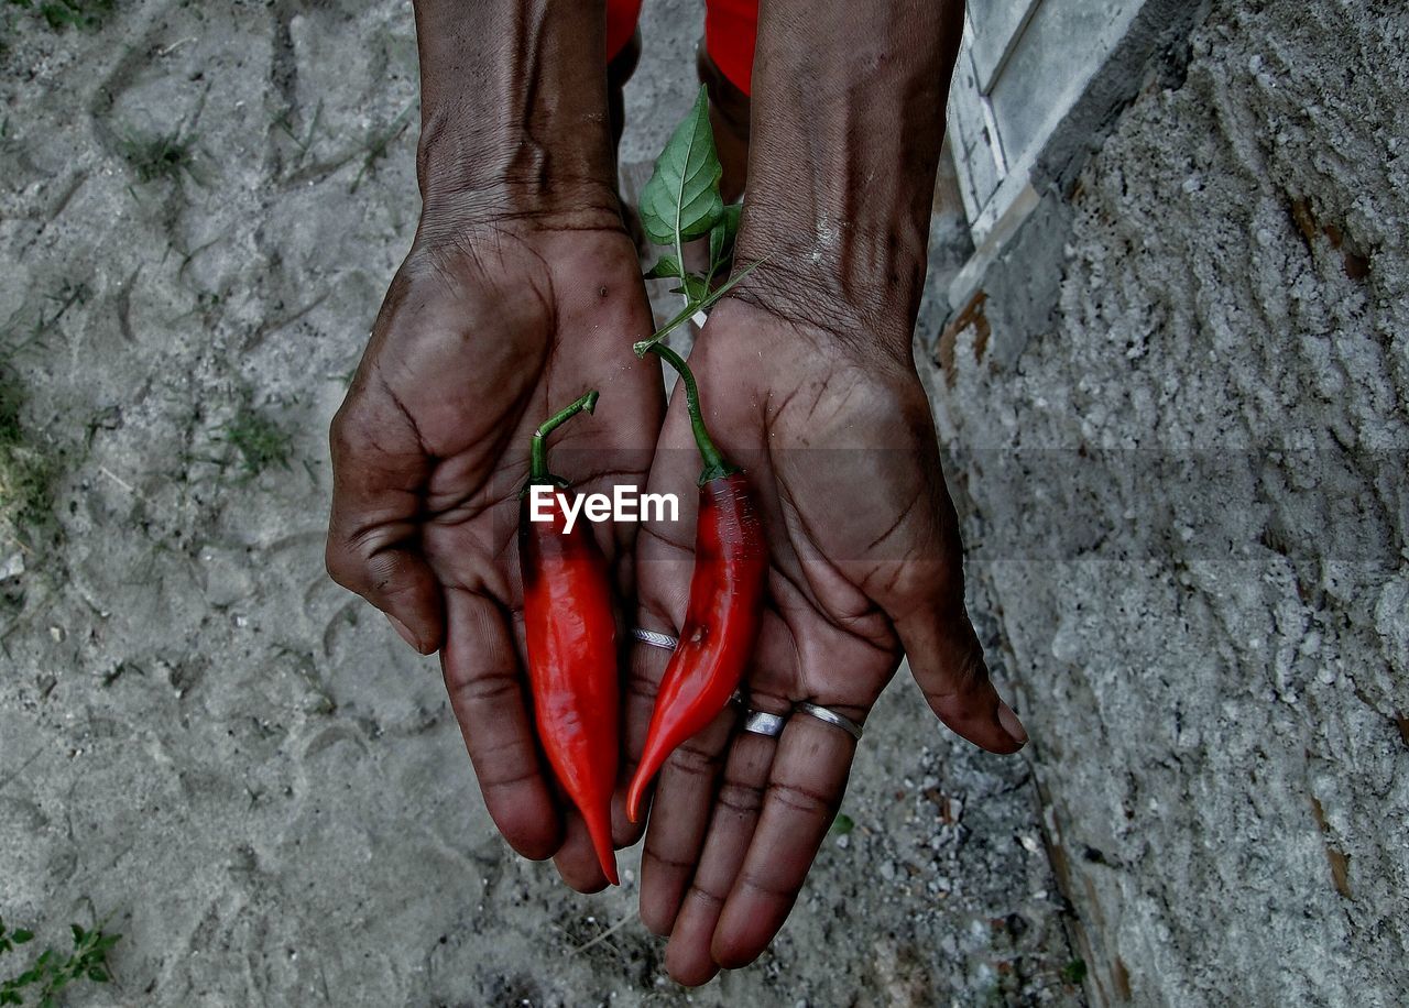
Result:
<svg viewBox="0 0 1409 1008"><path fill-rule="evenodd" d="M617 217L602 0L416 0L427 211Z"/></svg>

